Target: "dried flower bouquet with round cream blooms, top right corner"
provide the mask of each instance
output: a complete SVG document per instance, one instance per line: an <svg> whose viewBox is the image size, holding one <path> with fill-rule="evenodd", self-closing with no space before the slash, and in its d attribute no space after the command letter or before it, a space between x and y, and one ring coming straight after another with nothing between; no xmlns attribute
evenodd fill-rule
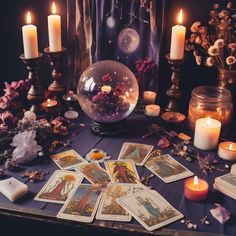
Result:
<svg viewBox="0 0 236 236"><path fill-rule="evenodd" d="M198 65L216 66L224 70L236 69L236 10L231 1L226 9L214 4L208 27L200 21L191 26L186 50L193 50Z"/></svg>

